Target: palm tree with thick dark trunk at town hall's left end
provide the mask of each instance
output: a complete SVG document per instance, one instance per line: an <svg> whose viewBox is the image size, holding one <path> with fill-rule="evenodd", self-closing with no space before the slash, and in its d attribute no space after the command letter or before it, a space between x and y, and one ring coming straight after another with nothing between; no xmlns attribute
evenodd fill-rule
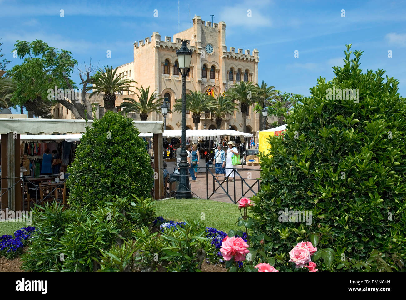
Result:
<svg viewBox="0 0 406 300"><path fill-rule="evenodd" d="M91 83L86 87L86 91L93 90L90 97L97 93L104 93L103 101L104 107L112 108L115 107L116 103L116 93L123 94L123 91L130 91L132 83L136 83L131 79L121 79L120 76L114 78L117 72L117 68L113 70L113 67L108 65L104 67L104 71L99 68L99 71L92 77Z"/></svg>

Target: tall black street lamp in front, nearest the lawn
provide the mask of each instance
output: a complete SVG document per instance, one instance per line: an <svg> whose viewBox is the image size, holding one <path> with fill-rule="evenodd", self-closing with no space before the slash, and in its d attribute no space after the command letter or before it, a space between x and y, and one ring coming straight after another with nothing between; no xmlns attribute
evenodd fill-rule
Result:
<svg viewBox="0 0 406 300"><path fill-rule="evenodd" d="M186 46L187 40L182 39L182 46L176 50L178 58L179 73L182 75L182 150L180 152L180 184L176 193L176 199L190 199L192 193L190 192L189 176L188 176L188 154L186 153L186 75L190 71L190 61L192 60L192 49Z"/></svg>

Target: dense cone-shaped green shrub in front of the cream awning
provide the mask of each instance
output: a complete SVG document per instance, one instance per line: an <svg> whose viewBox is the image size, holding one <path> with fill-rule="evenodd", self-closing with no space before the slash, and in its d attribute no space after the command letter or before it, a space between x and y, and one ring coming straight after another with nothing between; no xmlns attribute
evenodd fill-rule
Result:
<svg viewBox="0 0 406 300"><path fill-rule="evenodd" d="M95 205L113 196L148 196L153 184L145 141L132 119L108 111L87 128L68 169L69 201Z"/></svg>

